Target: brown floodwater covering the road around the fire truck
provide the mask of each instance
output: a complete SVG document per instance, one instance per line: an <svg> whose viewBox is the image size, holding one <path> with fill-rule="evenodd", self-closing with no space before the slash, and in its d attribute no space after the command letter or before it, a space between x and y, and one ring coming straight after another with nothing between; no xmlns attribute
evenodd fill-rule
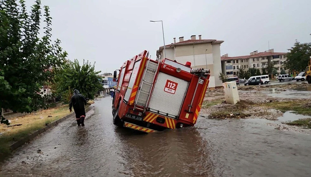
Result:
<svg viewBox="0 0 311 177"><path fill-rule="evenodd" d="M195 127L141 134L116 128L110 105L102 98L84 128L72 117L19 148L0 176L311 176L310 135L263 119L203 117Z"/></svg>

